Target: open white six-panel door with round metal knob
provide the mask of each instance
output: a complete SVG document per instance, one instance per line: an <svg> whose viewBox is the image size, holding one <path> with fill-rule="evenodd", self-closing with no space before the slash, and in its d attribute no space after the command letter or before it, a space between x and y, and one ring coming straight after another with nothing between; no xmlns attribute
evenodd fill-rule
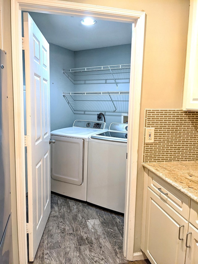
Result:
<svg viewBox="0 0 198 264"><path fill-rule="evenodd" d="M50 213L49 44L24 13L28 160L29 261L36 255Z"/></svg>

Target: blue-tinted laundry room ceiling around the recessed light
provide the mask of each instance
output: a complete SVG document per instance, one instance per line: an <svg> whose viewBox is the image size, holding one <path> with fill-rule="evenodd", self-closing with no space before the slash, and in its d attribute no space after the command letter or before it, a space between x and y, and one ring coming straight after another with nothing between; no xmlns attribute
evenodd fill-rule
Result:
<svg viewBox="0 0 198 264"><path fill-rule="evenodd" d="M95 19L92 26L81 24L82 16L29 12L49 43L72 51L131 43L132 24ZM94 17L92 17L94 19Z"/></svg>

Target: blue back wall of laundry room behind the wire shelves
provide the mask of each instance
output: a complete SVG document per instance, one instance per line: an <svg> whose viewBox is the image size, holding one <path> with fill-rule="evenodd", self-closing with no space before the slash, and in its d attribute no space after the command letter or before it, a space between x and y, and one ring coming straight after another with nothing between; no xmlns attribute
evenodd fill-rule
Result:
<svg viewBox="0 0 198 264"><path fill-rule="evenodd" d="M131 44L105 47L92 50L75 51L75 68L78 67L94 67L117 64L131 63ZM128 76L128 75L127 75ZM75 84L75 91L129 91L129 83L118 84ZM116 106L118 103L115 103ZM102 105L102 103L101 103ZM122 113L126 113L126 107L122 108ZM99 112L105 114L107 126L110 123L121 123L121 112ZM128 111L127 111L128 112ZM89 112L87 114L75 114L75 119L97 120L97 112Z"/></svg>

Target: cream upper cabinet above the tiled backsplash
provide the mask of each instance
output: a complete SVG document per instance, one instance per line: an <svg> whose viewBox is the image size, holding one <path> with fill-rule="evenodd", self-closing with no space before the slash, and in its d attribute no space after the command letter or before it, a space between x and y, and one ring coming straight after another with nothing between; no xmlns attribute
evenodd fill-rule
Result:
<svg viewBox="0 0 198 264"><path fill-rule="evenodd" d="M198 0L190 0L183 110L198 111Z"/></svg>

